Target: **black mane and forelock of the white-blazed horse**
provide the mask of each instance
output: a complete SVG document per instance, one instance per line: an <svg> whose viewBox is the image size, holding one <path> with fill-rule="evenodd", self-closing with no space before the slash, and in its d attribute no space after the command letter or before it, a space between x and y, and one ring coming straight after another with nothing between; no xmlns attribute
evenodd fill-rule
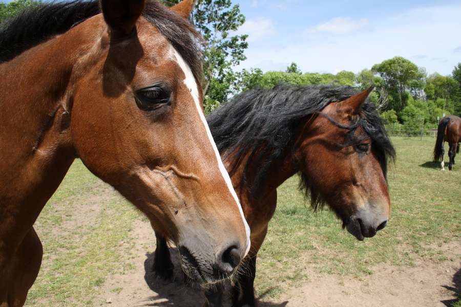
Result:
<svg viewBox="0 0 461 307"><path fill-rule="evenodd" d="M99 13L99 2L96 0L41 3L24 9L0 24L0 63L13 59L57 34L67 32ZM157 1L148 1L142 15L170 41L201 81L201 36L193 26Z"/></svg>

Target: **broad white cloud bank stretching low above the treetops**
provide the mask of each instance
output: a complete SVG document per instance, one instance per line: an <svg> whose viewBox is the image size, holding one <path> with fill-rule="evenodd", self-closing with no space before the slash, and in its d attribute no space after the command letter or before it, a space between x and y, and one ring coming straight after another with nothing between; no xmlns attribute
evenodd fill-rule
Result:
<svg viewBox="0 0 461 307"><path fill-rule="evenodd" d="M425 67L428 73L447 75L459 62L459 53L453 52L461 47L459 40L453 39L461 32L459 16L461 4L455 4L369 19L367 25L364 21L346 22L343 23L348 25L344 26L346 29L338 27L341 23L327 21L316 27L323 29L316 34L305 30L298 33L278 30L277 43L270 37L251 44L246 52L248 59L240 68L258 67L258 63L296 62L303 71L309 72L359 72L385 59L403 56ZM366 27L366 31L357 25Z"/></svg>

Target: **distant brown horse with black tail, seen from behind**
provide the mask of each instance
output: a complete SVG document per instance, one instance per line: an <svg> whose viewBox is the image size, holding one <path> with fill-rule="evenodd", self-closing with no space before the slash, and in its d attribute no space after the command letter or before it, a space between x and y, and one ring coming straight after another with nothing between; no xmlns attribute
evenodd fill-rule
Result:
<svg viewBox="0 0 461 307"><path fill-rule="evenodd" d="M450 162L448 169L453 169L454 158L456 153L459 153L459 143L461 142L461 118L450 115L444 117L438 123L437 140L434 147L434 161L440 162L442 170L445 170L445 142L448 142L450 149L448 150L448 157Z"/></svg>

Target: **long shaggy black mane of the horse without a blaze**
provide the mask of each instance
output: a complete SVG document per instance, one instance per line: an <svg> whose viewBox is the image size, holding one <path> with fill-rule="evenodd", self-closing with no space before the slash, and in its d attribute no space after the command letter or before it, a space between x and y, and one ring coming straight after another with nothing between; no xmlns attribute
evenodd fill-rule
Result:
<svg viewBox="0 0 461 307"><path fill-rule="evenodd" d="M272 163L294 147L296 129L306 117L315 116L329 103L343 101L357 93L350 86L282 84L270 90L256 89L237 95L207 119L219 151L225 155L232 153L231 172L248 152L244 180L248 165L256 163L260 167L252 186L255 193ZM387 173L388 160L394 159L395 150L372 102L367 100L363 104L358 122L347 127L334 124L350 131L361 126L378 151L384 174ZM310 191L313 207L322 204L317 189L302 174L301 187Z"/></svg>

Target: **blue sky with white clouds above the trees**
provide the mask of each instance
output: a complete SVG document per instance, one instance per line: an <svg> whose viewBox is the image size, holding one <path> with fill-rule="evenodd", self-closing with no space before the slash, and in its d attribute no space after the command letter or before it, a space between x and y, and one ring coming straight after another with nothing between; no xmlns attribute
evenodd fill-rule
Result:
<svg viewBox="0 0 461 307"><path fill-rule="evenodd" d="M1 2L9 2L0 0ZM461 1L233 0L246 16L239 69L359 72L399 55L428 73L461 62Z"/></svg>

